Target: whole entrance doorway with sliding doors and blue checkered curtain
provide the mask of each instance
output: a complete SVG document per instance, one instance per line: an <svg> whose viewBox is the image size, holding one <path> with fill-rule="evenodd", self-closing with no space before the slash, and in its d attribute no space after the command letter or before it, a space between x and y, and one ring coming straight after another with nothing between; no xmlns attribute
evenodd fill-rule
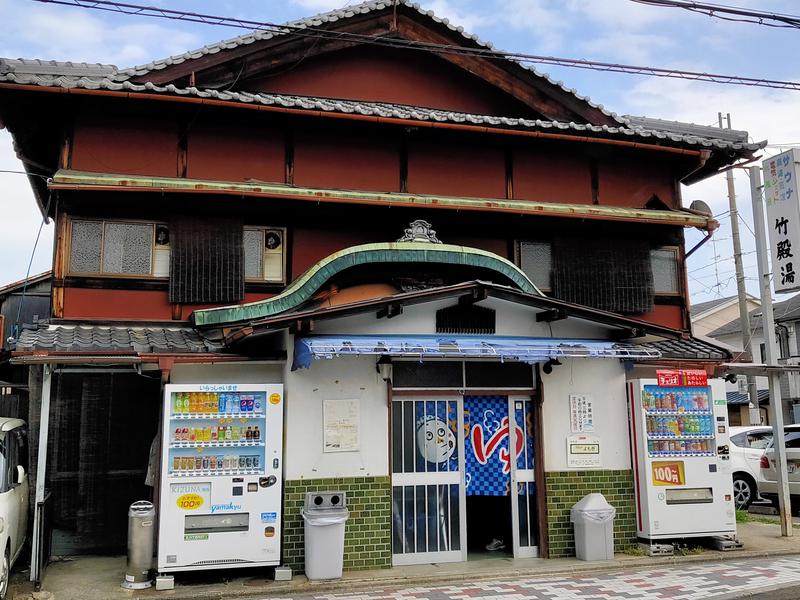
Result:
<svg viewBox="0 0 800 600"><path fill-rule="evenodd" d="M392 398L392 562L538 555L530 396ZM495 544L497 545L497 544Z"/></svg>

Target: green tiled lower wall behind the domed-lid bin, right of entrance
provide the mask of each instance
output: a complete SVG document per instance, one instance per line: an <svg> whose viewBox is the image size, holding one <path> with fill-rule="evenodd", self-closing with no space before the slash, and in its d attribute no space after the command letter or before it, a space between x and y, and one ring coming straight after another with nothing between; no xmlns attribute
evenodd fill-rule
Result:
<svg viewBox="0 0 800 600"><path fill-rule="evenodd" d="M575 540L570 508L586 494L600 492L617 509L614 518L614 552L636 543L636 500L633 472L622 471L550 471L547 485L547 521L550 556L575 556Z"/></svg>

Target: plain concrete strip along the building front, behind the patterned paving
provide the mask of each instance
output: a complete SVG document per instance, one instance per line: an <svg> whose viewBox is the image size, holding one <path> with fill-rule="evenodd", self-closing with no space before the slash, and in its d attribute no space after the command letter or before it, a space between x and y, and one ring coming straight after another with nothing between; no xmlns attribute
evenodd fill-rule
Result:
<svg viewBox="0 0 800 600"><path fill-rule="evenodd" d="M796 533L800 534L800 531L796 531ZM43 589L55 594L56 600L157 600L159 598L168 598L169 600L232 600L238 598L245 600L247 598L309 597L360 599L362 592L363 598L366 600L375 597L375 590L384 592L384 595L378 595L376 600L395 600L397 597L392 594L399 592L390 592L390 590L442 590L456 589L459 586L464 589L471 589L470 586L473 586L476 590L471 592L473 595L486 597L487 594L480 592L479 582L514 581L525 582L526 589L530 590L529 597L539 598L541 596L534 595L534 591L538 590L536 587L538 584L563 587L564 582L567 581L572 582L569 585L585 584L592 587L600 585L604 581L610 581L607 579L608 577L633 577L636 579L640 573L663 572L665 573L663 577L667 579L659 585L670 588L673 584L667 581L669 574L674 576L675 573L705 573L707 569L710 569L708 572L715 572L715 569L727 569L734 564L757 565L758 561L762 561L763 564L774 562L776 565L781 565L781 569L785 566L785 563L778 562L781 560L788 560L791 564L800 566L800 535L782 538L780 527L777 524L755 522L741 523L739 536L744 541L744 549L725 553L706 550L699 554L690 553L686 556L672 557L617 554L614 560L597 562L584 562L575 558L480 558L463 563L347 571L342 579L329 582L310 582L302 575L295 575L291 581L274 581L270 577L268 569L198 571L178 574L175 578L175 589L168 592L158 592L152 588L138 592L123 590L120 583L125 574L125 557L86 556L59 560L47 567ZM736 567L732 572L723 573L723 575L728 577L727 581L738 581L737 578L747 574L744 571L740 573L740 570ZM798 571L800 572L800 569ZM765 579L769 580L766 585L783 584L782 578L771 581L779 575L782 576L783 573L783 570L775 570L775 574L764 575ZM32 587L26 580L26 575L27 573L19 571L14 573L9 591L10 599L32 600ZM638 576L641 577L641 575ZM554 584L553 582L556 581L560 583ZM630 582L628 583L630 584ZM800 583L800 576L797 583ZM603 585L610 588L611 592L606 589L602 594L596 594L595 598L691 597L615 595L618 589L615 584ZM713 585L713 583L708 583L708 585ZM762 584L758 583L757 585ZM636 588L636 586L633 588L640 592L658 589ZM345 592L346 594L343 596L335 596L335 594ZM323 594L330 595L323 596ZM524 595L515 594L509 593L508 595L512 596L512 600L526 598ZM491 595L489 594L489 596ZM493 595L505 594L494 593ZM469 593L463 592L460 597L453 596L452 600L465 600L470 597L472 596ZM553 596L552 593L549 596L549 598L556 599L562 597L564 596ZM576 595L566 597L581 598ZM413 598L419 600L425 596L419 594ZM433 595L432 599L451 600L451 597L440 593Z"/></svg>

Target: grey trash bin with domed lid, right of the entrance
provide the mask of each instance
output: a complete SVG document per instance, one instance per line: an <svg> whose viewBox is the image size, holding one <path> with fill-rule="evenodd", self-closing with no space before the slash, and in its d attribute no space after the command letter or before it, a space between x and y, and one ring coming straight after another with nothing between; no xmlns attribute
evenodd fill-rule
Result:
<svg viewBox="0 0 800 600"><path fill-rule="evenodd" d="M614 516L617 509L603 494L587 494L570 511L575 528L575 556L579 560L614 558Z"/></svg>

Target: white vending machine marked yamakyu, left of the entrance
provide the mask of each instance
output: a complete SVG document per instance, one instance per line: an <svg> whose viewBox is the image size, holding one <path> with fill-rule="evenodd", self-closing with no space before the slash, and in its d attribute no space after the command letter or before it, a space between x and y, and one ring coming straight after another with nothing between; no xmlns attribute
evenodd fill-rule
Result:
<svg viewBox="0 0 800 600"><path fill-rule="evenodd" d="M283 386L167 385L158 570L278 565Z"/></svg>

